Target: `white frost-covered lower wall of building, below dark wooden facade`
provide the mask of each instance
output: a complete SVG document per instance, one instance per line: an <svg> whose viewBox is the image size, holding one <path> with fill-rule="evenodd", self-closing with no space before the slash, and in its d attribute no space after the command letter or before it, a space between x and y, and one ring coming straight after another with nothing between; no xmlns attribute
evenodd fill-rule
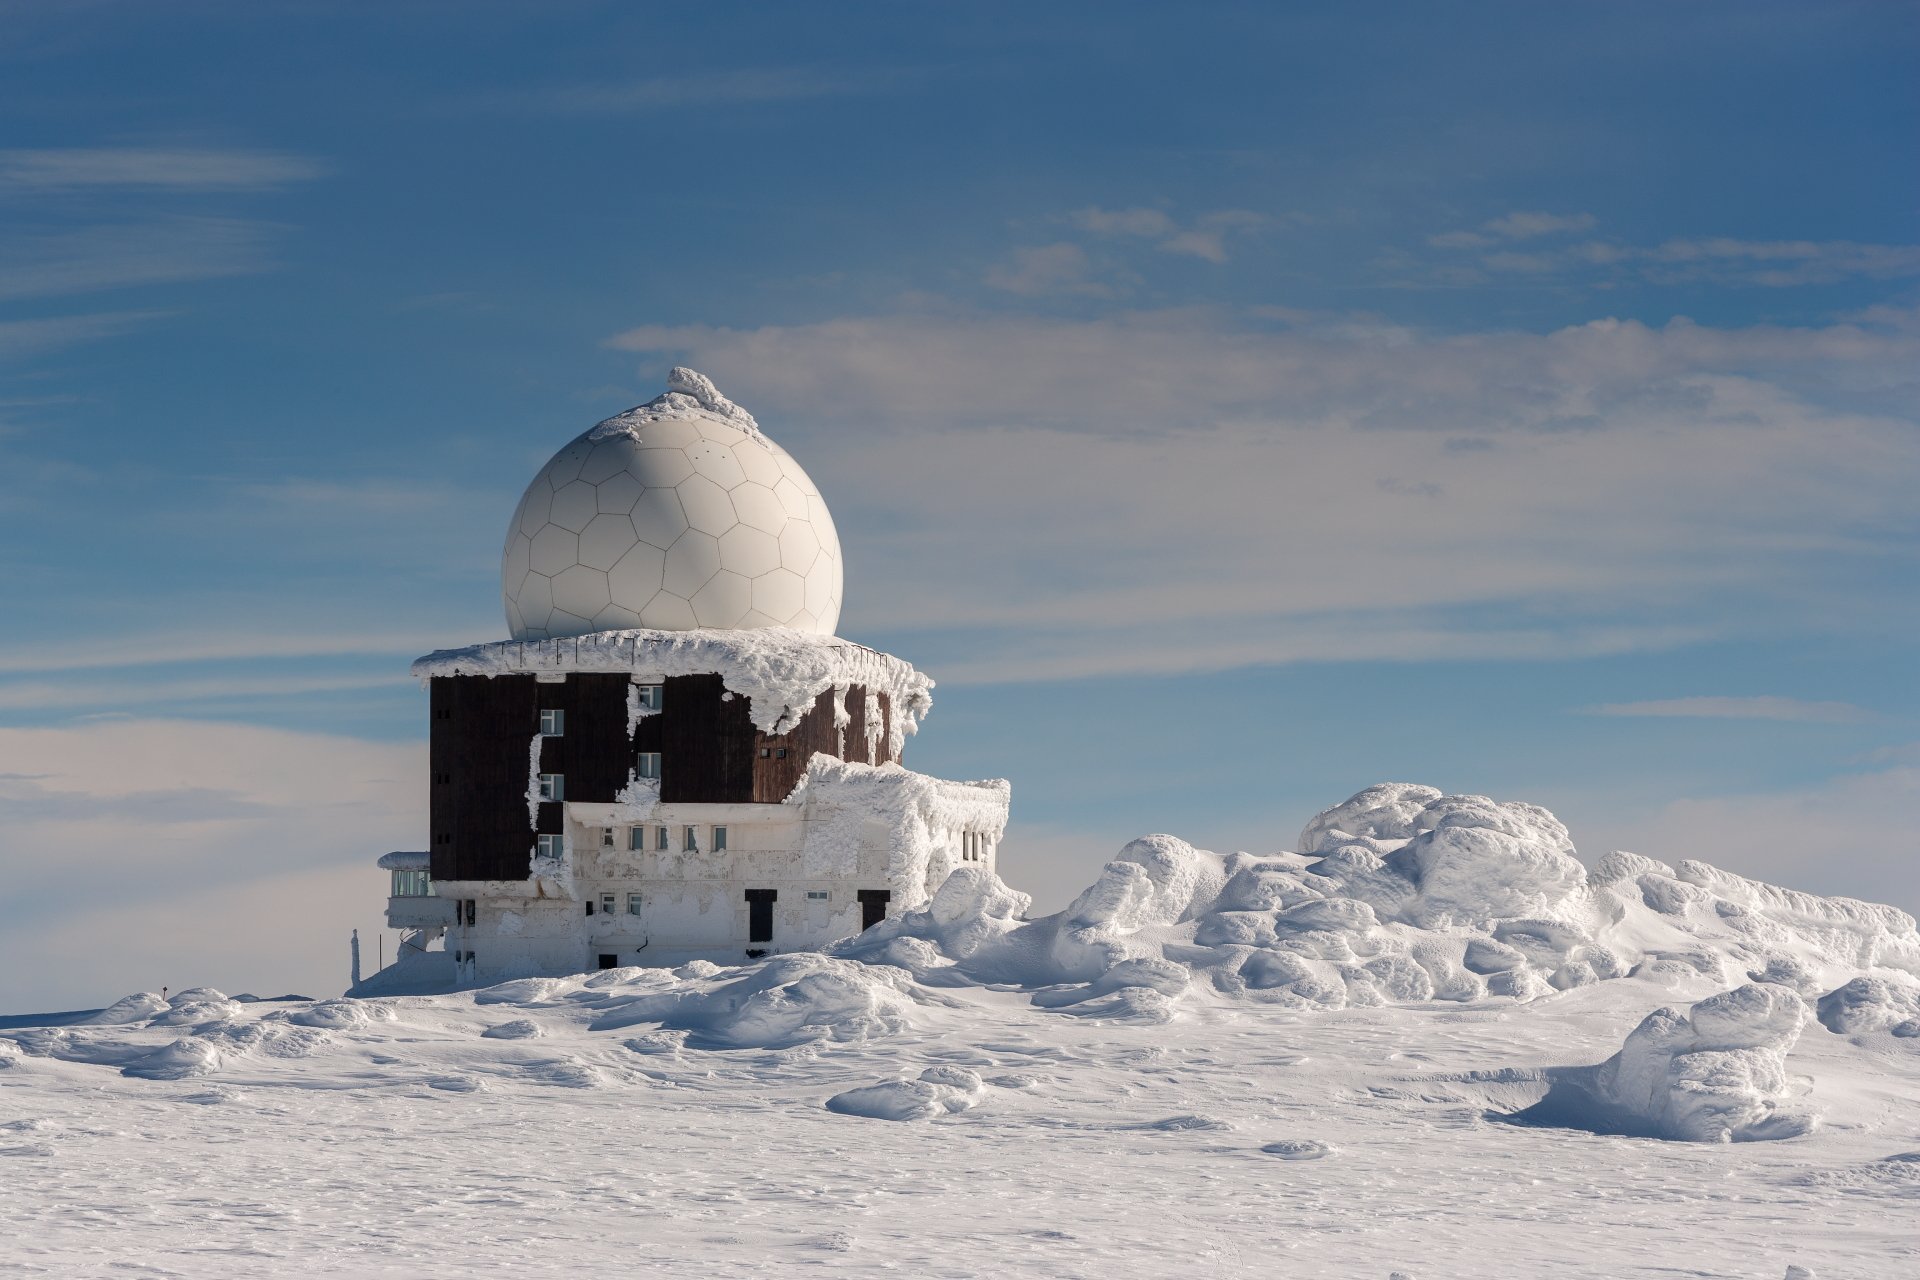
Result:
<svg viewBox="0 0 1920 1280"><path fill-rule="evenodd" d="M637 781L614 804L568 802L561 858L536 860L526 881L440 881L442 898L474 904L445 946L463 956L461 983L578 973L603 956L678 965L818 950L862 931L862 890L883 890L900 913L960 867L993 875L1008 794L1000 779L818 754L781 804L664 804ZM726 848L714 848L718 827ZM747 890L774 894L766 938L751 936ZM399 990L392 983L380 990Z"/></svg>

